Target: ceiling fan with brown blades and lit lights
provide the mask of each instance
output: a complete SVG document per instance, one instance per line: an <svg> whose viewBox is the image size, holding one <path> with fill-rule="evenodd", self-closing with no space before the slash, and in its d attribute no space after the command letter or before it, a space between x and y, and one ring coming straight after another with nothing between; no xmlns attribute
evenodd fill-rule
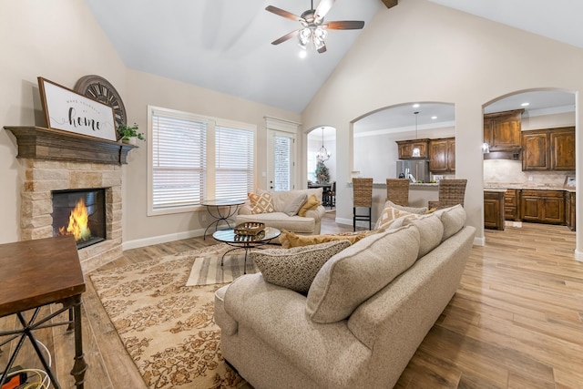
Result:
<svg viewBox="0 0 583 389"><path fill-rule="evenodd" d="M312 42L312 45L318 50L318 53L323 53L326 51L326 43L324 42L324 39L328 36L326 30L360 30L363 28L364 22L358 20L343 20L324 23L324 16L330 11L333 4L334 0L322 0L318 7L314 9L313 0L311 0L310 9L304 11L302 16L293 15L291 12L285 11L276 6L268 5L265 7L266 11L287 19L298 21L302 24L297 30L271 42L271 45L279 45L282 42L297 36L302 48L307 48Z"/></svg>

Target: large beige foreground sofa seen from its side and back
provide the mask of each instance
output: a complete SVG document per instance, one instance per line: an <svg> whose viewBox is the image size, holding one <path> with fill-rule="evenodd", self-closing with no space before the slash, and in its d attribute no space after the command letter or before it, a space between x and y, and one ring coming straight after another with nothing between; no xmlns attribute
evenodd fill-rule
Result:
<svg viewBox="0 0 583 389"><path fill-rule="evenodd" d="M455 294L476 232L461 206L399 224L334 254L307 295L261 273L220 288L225 359L256 389L393 387Z"/></svg>

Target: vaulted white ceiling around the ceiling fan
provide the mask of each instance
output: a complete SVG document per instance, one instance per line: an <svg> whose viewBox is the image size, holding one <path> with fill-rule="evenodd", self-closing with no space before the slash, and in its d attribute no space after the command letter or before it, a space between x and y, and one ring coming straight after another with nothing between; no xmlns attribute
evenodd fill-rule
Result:
<svg viewBox="0 0 583 389"><path fill-rule="evenodd" d="M583 47L583 1L430 1ZM327 52L300 58L295 39L271 45L299 24L265 7L301 15L310 0L85 2L126 66L298 113L362 31L330 31ZM379 10L391 12L381 0L336 0L326 20L368 23Z"/></svg>

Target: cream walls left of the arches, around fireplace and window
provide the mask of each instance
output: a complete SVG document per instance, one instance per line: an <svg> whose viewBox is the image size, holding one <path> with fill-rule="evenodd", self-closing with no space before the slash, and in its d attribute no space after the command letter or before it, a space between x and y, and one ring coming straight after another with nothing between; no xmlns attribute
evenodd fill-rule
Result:
<svg viewBox="0 0 583 389"><path fill-rule="evenodd" d="M112 10L115 12L115 10ZM73 88L86 75L107 78L121 95L128 122L147 128L147 106L185 110L257 125L257 171L267 170L265 118L300 121L278 108L127 69L87 6L77 0L3 1L0 12L0 125L46 127L36 77ZM130 151L123 167L124 248L185 238L206 223L202 212L147 217L147 149ZM15 137L0 130L0 243L19 240L20 190ZM298 173L298 179L300 175ZM267 187L261 174L258 188ZM303 176L302 176L303 177Z"/></svg>

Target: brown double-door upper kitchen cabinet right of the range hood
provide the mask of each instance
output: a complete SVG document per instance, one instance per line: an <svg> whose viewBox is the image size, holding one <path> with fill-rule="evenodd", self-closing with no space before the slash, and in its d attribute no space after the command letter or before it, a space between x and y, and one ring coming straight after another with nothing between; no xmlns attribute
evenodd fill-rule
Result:
<svg viewBox="0 0 583 389"><path fill-rule="evenodd" d="M575 128L523 131L523 170L575 170Z"/></svg>

